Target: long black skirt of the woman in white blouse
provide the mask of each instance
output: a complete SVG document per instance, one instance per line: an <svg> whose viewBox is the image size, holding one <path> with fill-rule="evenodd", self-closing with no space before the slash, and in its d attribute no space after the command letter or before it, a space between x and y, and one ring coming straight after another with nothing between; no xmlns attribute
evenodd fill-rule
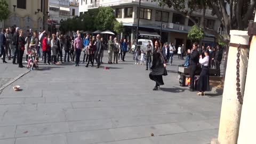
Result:
<svg viewBox="0 0 256 144"><path fill-rule="evenodd" d="M209 67L203 66L201 74L198 79L197 90L199 92L209 91L210 84L209 84Z"/></svg>

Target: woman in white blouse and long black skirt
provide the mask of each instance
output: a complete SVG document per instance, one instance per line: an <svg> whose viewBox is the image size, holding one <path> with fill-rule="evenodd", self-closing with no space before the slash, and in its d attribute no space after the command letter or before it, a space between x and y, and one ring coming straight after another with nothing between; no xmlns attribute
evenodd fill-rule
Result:
<svg viewBox="0 0 256 144"><path fill-rule="evenodd" d="M202 58L202 55L200 55L199 63L202 65L202 71L198 79L198 93L197 95L205 95L205 91L210 90L210 84L209 84L209 50L204 51L205 57Z"/></svg>

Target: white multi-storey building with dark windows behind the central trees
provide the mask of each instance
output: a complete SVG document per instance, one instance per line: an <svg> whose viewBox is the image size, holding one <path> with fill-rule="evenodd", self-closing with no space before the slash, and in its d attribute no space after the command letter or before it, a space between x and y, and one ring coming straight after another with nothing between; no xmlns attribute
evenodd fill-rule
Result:
<svg viewBox="0 0 256 144"><path fill-rule="evenodd" d="M98 9L99 6L110 6L115 11L116 19L123 22L125 33L123 38L135 39L138 25L139 0L80 0L79 13L87 12L91 9ZM185 44L191 45L188 41L188 31L194 25L188 18L183 17L179 12L172 8L164 7L163 24L162 7L158 5L157 0L141 0L139 38L156 39L159 38L162 27L162 41L173 42L176 46ZM193 18L201 22L202 12L193 13ZM211 10L206 10L206 27L218 30L220 21L211 14ZM206 34L203 43L214 45L215 38L211 34Z"/></svg>

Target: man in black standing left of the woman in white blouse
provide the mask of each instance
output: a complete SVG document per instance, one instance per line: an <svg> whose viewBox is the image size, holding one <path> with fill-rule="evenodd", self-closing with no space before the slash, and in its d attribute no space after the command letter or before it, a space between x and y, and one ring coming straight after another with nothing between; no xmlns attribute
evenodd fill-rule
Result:
<svg viewBox="0 0 256 144"><path fill-rule="evenodd" d="M196 74L196 68L199 63L199 52L197 50L197 43L193 44L193 48L191 50L190 54L190 91L194 91L195 89L195 74Z"/></svg>

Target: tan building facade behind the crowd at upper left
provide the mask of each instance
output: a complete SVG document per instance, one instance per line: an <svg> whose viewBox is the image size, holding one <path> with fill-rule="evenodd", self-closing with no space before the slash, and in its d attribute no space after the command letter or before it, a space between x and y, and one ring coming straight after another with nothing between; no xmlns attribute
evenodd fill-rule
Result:
<svg viewBox="0 0 256 144"><path fill-rule="evenodd" d="M9 0L10 15L2 23L3 28L20 27L23 30L47 29L48 0Z"/></svg>

